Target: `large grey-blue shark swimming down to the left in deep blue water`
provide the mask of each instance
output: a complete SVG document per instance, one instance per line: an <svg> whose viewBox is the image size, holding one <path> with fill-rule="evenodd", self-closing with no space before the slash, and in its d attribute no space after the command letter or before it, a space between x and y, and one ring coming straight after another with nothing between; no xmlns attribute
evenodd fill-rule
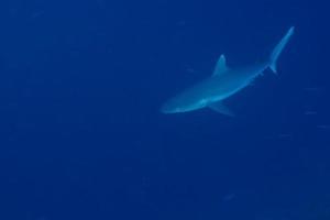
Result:
<svg viewBox="0 0 330 220"><path fill-rule="evenodd" d="M223 100L249 86L265 69L270 68L276 74L277 58L294 34L294 31L295 28L292 26L266 61L255 65L231 68L227 66L226 57L222 54L210 77L169 99L163 105L161 111L163 113L179 113L210 108L219 113L233 117L233 112L223 105Z"/></svg>

